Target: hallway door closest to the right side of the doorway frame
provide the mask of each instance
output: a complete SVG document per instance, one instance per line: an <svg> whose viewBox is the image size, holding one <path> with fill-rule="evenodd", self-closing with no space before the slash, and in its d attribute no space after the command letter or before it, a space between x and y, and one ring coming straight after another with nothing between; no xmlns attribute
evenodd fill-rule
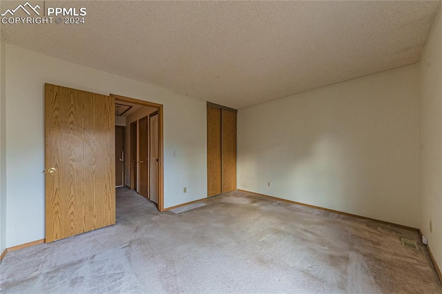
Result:
<svg viewBox="0 0 442 294"><path fill-rule="evenodd" d="M151 202L155 202L158 204L158 185L159 185L159 173L160 173L160 164L159 160L159 124L158 124L158 112L154 113L150 117L150 194L151 194Z"/></svg>

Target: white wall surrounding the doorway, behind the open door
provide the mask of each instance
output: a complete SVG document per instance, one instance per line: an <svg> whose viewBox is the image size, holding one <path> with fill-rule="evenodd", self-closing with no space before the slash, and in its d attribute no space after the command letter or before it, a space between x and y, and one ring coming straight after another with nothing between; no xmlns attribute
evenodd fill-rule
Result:
<svg viewBox="0 0 442 294"><path fill-rule="evenodd" d="M7 247L44 238L44 83L162 104L164 207L206 197L206 101L6 44Z"/></svg>

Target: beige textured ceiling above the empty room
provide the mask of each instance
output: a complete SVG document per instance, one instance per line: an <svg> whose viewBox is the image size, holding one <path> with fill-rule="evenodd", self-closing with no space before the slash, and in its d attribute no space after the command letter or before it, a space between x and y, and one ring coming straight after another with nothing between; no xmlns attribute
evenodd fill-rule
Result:
<svg viewBox="0 0 442 294"><path fill-rule="evenodd" d="M86 23L2 25L6 42L242 108L416 63L440 1L45 4Z"/></svg>

